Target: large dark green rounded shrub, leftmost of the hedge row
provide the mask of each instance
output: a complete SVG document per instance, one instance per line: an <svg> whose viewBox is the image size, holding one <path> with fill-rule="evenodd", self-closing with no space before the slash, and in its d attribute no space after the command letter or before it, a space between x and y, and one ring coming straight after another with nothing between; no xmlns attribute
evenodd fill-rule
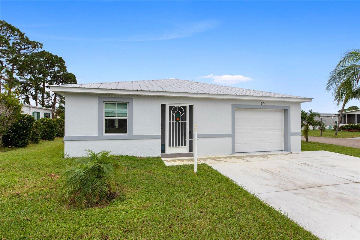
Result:
<svg viewBox="0 0 360 240"><path fill-rule="evenodd" d="M35 118L29 114L20 114L19 119L3 136L4 146L26 147L30 142Z"/></svg>

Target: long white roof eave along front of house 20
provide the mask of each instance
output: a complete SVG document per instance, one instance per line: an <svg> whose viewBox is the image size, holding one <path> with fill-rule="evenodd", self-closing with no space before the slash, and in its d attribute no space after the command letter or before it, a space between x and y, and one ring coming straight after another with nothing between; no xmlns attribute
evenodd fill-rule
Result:
<svg viewBox="0 0 360 240"><path fill-rule="evenodd" d="M94 89L83 87L49 86L50 91L58 94L64 93L90 93L90 94L116 94L116 95L140 95L140 96L171 96L188 98L212 98L212 99L242 99L242 100L272 100L272 101L294 101L300 103L311 102L312 98L291 98L276 96L249 96L249 95L225 95L225 94L203 94L187 92L161 92L161 91L138 91L117 89Z"/></svg>

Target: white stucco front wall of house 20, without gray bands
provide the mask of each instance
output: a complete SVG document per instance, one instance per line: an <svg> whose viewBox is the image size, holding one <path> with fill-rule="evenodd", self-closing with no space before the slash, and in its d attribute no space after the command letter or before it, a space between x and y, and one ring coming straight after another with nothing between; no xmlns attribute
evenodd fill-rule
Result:
<svg viewBox="0 0 360 240"><path fill-rule="evenodd" d="M98 135L98 97L111 95L66 94L65 95L65 136ZM122 96L115 96L122 97ZM161 135L161 104L193 104L194 124L198 134L231 134L231 104L260 105L261 101L222 100L200 98L172 98L123 96L133 98L132 134ZM264 101L263 101L264 102ZM290 106L290 127L292 133L300 133L300 103L265 101L265 105ZM66 141L65 153L70 156L81 155L83 149L93 148L113 150L117 154L138 156L159 156L160 139L131 140L76 140ZM123 142L123 143L122 143ZM155 144L154 146L152 144ZM134 147L131 147L134 146ZM136 148L135 148L136 146ZM141 147L138 149L137 146ZM291 136L291 151L300 151L300 136ZM199 138L198 155L231 154L231 137Z"/></svg>

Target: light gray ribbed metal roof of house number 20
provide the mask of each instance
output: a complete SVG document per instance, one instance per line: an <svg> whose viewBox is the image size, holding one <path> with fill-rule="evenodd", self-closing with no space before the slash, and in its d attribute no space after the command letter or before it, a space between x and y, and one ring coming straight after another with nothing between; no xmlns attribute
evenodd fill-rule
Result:
<svg viewBox="0 0 360 240"><path fill-rule="evenodd" d="M193 82L175 78L160 80L126 81L126 82L102 82L102 83L81 83L55 85L61 87L79 87L91 89L116 89L136 91L158 91L158 92L184 92L200 94L220 95L243 95L243 96L266 96L280 98L303 98L299 96L279 94L274 92L243 89L239 87L221 86L204 82Z"/></svg>

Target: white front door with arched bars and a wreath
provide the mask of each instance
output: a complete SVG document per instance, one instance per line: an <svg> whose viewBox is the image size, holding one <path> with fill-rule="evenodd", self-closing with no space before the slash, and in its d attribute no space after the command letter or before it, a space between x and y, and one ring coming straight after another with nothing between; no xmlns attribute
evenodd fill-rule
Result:
<svg viewBox="0 0 360 240"><path fill-rule="evenodd" d="M166 104L166 153L189 152L189 105Z"/></svg>

